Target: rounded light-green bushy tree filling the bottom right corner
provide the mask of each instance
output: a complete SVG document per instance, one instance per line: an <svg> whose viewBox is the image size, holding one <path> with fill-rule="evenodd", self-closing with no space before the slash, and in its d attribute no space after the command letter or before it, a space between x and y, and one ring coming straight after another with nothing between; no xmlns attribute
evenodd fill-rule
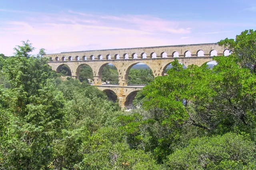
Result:
<svg viewBox="0 0 256 170"><path fill-rule="evenodd" d="M170 169L255 169L255 144L242 135L202 137L168 156Z"/></svg>

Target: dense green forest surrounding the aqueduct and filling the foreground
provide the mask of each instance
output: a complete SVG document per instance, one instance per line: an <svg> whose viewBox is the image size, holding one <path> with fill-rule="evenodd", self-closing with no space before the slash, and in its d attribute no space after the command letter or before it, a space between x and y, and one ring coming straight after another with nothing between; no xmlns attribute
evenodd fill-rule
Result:
<svg viewBox="0 0 256 170"><path fill-rule="evenodd" d="M213 68L131 69L130 83L147 85L124 111L88 84L90 68L62 80L68 69L23 41L0 57L0 169L256 169L256 31L218 43L232 54Z"/></svg>

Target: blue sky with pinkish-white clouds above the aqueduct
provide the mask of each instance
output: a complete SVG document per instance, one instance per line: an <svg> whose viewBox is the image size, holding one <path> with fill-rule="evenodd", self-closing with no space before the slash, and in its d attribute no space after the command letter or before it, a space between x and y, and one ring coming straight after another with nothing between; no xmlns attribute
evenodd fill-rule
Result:
<svg viewBox="0 0 256 170"><path fill-rule="evenodd" d="M255 0L0 0L0 53L216 43L256 29Z"/></svg>

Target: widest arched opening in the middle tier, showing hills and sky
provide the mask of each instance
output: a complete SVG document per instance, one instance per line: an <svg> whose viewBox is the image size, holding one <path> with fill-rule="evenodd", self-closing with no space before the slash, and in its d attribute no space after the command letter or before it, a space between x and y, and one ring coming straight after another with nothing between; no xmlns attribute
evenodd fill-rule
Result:
<svg viewBox="0 0 256 170"><path fill-rule="evenodd" d="M145 85L154 80L154 73L144 63L134 63L126 70L128 85Z"/></svg>

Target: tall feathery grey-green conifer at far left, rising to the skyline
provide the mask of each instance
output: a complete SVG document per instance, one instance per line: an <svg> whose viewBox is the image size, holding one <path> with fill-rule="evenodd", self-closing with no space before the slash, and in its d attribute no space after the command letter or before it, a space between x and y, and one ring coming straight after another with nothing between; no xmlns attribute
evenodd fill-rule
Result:
<svg viewBox="0 0 256 170"><path fill-rule="evenodd" d="M11 86L0 93L0 167L45 169L60 137L64 98L49 80L47 59L30 55L34 48L22 43L3 66Z"/></svg>

